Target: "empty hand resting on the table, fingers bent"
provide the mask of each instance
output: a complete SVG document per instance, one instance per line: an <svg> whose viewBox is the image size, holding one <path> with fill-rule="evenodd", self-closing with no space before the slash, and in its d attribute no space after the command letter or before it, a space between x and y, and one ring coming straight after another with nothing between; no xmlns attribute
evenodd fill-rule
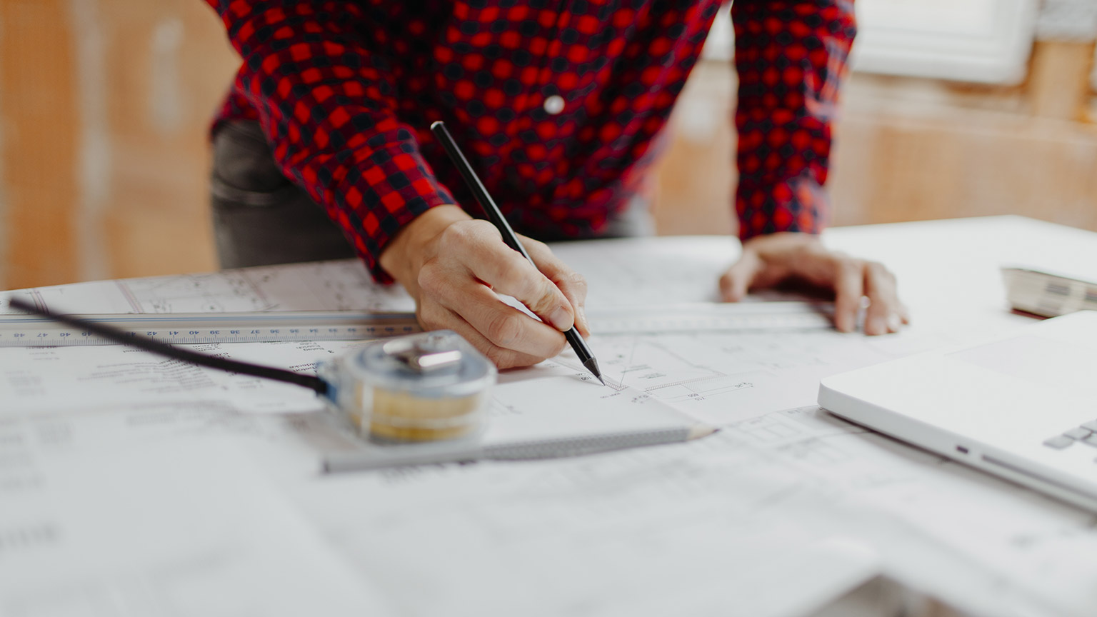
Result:
<svg viewBox="0 0 1097 617"><path fill-rule="evenodd" d="M840 332L853 332L861 298L869 299L864 334L898 332L909 323L898 300L895 277L883 265L828 250L818 236L781 233L756 236L743 243L743 255L720 278L720 292L727 302L742 300L747 290L802 281L834 291L834 323Z"/></svg>

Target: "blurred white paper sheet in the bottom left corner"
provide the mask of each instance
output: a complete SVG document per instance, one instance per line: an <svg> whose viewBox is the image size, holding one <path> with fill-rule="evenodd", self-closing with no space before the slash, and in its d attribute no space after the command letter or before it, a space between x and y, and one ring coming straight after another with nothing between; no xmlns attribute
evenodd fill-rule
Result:
<svg viewBox="0 0 1097 617"><path fill-rule="evenodd" d="M5 617L392 615L222 438L0 425Z"/></svg>

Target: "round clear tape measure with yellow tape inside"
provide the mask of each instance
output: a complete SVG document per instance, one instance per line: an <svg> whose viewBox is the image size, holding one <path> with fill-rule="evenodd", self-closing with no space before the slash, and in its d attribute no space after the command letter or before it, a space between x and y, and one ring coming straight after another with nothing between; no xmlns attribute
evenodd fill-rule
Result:
<svg viewBox="0 0 1097 617"><path fill-rule="evenodd" d="M329 399L363 436L427 442L478 435L495 364L452 330L372 343L317 367Z"/></svg>

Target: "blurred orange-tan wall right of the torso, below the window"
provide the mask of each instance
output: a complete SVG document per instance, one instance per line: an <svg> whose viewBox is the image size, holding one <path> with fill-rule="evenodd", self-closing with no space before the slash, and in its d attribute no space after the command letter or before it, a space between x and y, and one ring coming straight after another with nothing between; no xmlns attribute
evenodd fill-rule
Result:
<svg viewBox="0 0 1097 617"><path fill-rule="evenodd" d="M833 225L1021 214L1097 231L1094 46L1038 42L1016 87L855 72L828 180ZM660 233L732 231L734 76L694 71L676 109Z"/></svg>

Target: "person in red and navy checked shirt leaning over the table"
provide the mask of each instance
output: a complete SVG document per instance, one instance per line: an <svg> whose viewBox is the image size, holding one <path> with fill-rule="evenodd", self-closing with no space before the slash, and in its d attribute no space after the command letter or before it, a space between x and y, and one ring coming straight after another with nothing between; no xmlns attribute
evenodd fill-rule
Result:
<svg viewBox="0 0 1097 617"><path fill-rule="evenodd" d="M583 277L538 240L645 233L645 175L720 0L207 0L242 65L213 127L223 267L360 256L500 368L587 336ZM743 254L725 300L833 288L838 329L906 321L881 265L826 249L824 182L850 0L737 0ZM536 267L478 213L445 121ZM647 222L645 224L645 221ZM535 238L535 239L534 239ZM542 322L507 306L513 295Z"/></svg>

